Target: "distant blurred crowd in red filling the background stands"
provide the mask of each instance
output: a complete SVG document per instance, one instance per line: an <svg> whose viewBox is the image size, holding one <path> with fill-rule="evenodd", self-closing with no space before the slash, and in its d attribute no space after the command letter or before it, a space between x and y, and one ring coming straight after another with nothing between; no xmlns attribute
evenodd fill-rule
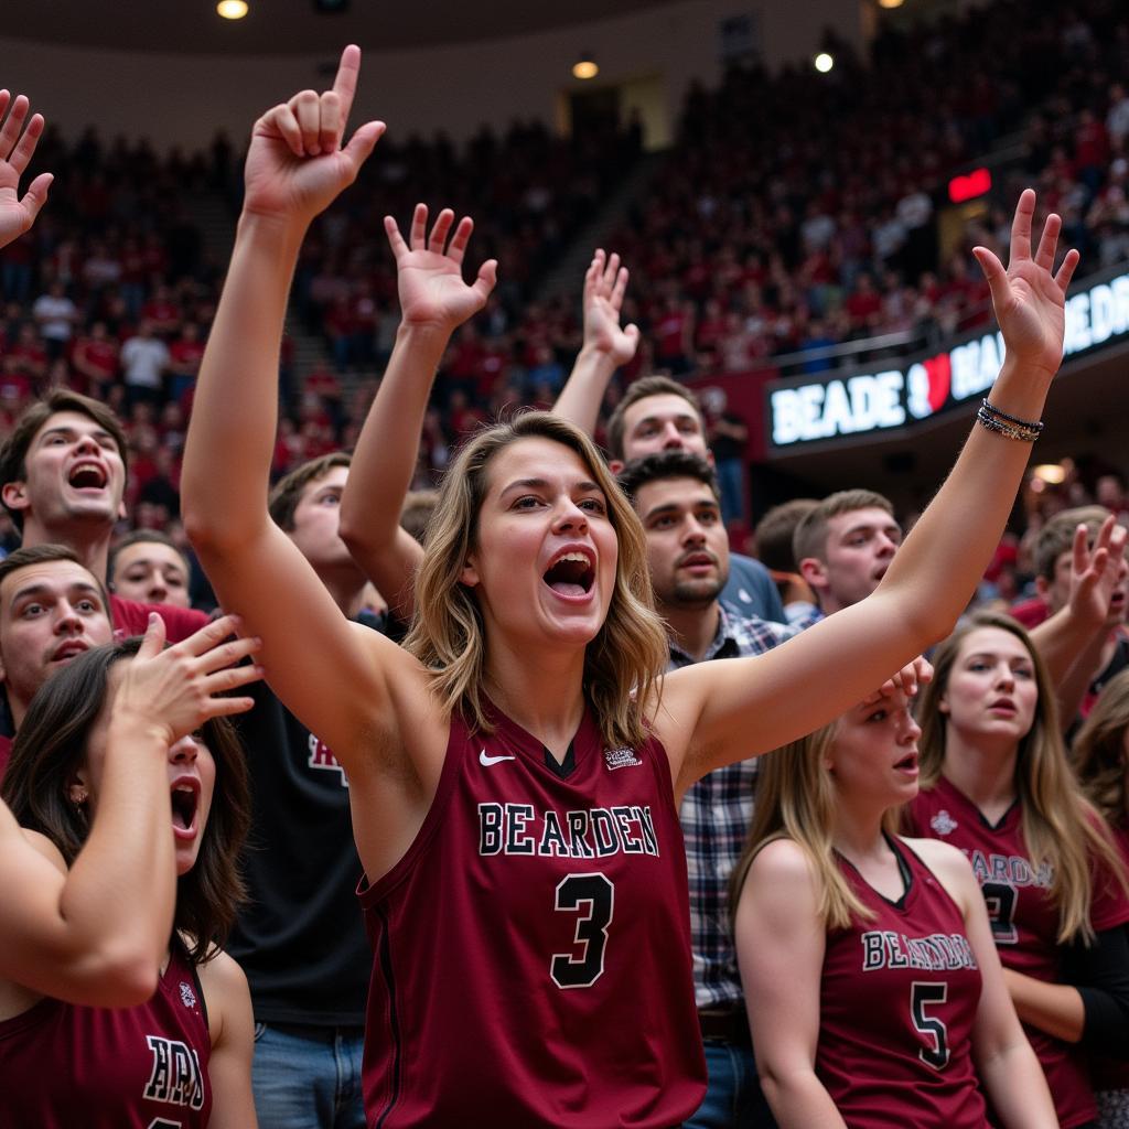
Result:
<svg viewBox="0 0 1129 1129"><path fill-rule="evenodd" d="M1003 248L1021 184L1062 213L1084 272L1129 256L1129 14L1114 0L1000 0L887 29L866 61L828 46L829 75L735 68L718 89L690 91L675 147L611 240L631 269L623 321L642 343L609 409L642 371L817 371L844 342L870 342L873 356L883 335L904 349L986 324L970 248ZM954 235L939 222L949 177L1008 138L992 194ZM296 371L283 342L275 472L355 440L399 316L383 217L420 199L474 218L472 253L499 260L499 285L447 352L415 484L480 421L551 403L580 344L580 280L549 299L539 283L640 152L638 122L606 117L570 139L532 122L462 147L384 139L303 247L292 314L324 341L324 361ZM128 427L141 526L176 518L220 283L191 203L233 196L238 164L222 137L158 155L93 130L72 146L49 133L37 165L55 173L51 205L0 255L0 436L52 386L105 400Z"/></svg>

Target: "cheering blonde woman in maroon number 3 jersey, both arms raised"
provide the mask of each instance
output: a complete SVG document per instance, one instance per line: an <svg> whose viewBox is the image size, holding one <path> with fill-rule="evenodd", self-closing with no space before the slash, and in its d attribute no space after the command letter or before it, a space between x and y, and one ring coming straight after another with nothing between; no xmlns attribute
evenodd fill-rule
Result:
<svg viewBox="0 0 1129 1129"><path fill-rule="evenodd" d="M448 473L406 646L356 628L272 526L266 485L298 248L383 130L341 146L359 63L348 47L332 90L254 126L185 524L224 606L262 637L272 688L349 774L375 951L369 1119L668 1127L703 1092L677 798L838 716L948 631L1029 448L977 427L873 596L762 658L664 680L639 522L592 443L532 413L478 436ZM981 253L1007 338L994 403L1029 420L1061 360L1077 262L1052 274L1057 217L1032 255L1033 211L1024 193L1008 272ZM441 212L430 237L426 222L417 209L405 240L388 221L403 323L387 441L412 453L420 390L495 271L464 283L470 221Z"/></svg>

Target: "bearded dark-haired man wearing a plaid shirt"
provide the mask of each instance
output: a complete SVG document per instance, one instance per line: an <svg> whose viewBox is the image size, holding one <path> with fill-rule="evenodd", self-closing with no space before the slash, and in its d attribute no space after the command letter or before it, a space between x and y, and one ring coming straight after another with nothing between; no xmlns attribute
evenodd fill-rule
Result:
<svg viewBox="0 0 1129 1129"><path fill-rule="evenodd" d="M669 669L708 659L759 655L796 629L725 607L729 570L712 467L684 449L628 463L620 485L642 522L655 605L667 627ZM717 769L692 785L681 807L690 881L694 994L709 1088L688 1129L771 1126L756 1082L729 918L729 875L745 844L756 787L756 758Z"/></svg>

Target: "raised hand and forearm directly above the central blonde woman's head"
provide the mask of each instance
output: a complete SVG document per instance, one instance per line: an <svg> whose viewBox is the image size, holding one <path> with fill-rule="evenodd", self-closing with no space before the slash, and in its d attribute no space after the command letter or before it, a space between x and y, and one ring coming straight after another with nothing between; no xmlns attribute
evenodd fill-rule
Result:
<svg viewBox="0 0 1129 1129"><path fill-rule="evenodd" d="M587 435L594 435L599 405L607 383L621 365L627 365L639 348L639 329L620 329L620 309L628 287L628 269L620 256L606 256L597 250L584 275L584 343L553 414L569 420Z"/></svg>

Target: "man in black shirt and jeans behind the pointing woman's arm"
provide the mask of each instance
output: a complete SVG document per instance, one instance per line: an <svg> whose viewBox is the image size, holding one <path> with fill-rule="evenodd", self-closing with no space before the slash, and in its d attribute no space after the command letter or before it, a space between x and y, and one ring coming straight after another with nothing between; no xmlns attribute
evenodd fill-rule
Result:
<svg viewBox="0 0 1129 1129"><path fill-rule="evenodd" d="M271 491L270 514L338 606L384 630L382 621L361 611L367 578L340 536L350 463L339 452L291 471ZM277 1129L360 1129L360 1056L373 957L357 903L361 865L349 781L333 752L265 682L248 693L255 706L235 721L247 750L256 849L246 856L250 896L227 951L251 986L259 1122Z"/></svg>

